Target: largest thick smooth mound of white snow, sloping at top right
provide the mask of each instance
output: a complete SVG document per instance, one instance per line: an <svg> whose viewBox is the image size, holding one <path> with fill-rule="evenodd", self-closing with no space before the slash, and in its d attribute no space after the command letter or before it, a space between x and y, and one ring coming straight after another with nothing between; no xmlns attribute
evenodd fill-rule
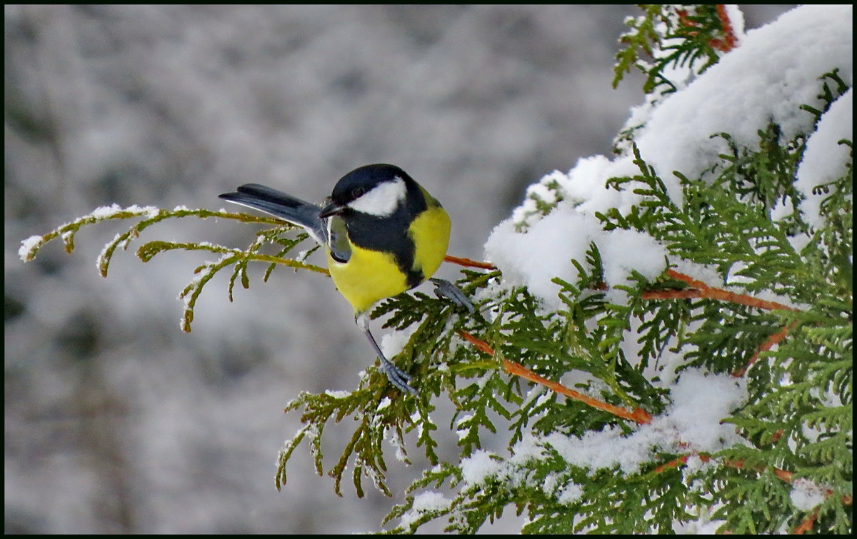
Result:
<svg viewBox="0 0 857 539"><path fill-rule="evenodd" d="M740 47L652 111L636 137L643 159L664 181L673 171L699 177L728 151L710 135L726 132L755 147L770 122L787 138L812 131L812 115L799 106L820 106L818 77L833 69L852 84L852 32L851 6L807 5L746 33ZM677 183L668 185L680 201Z"/></svg>

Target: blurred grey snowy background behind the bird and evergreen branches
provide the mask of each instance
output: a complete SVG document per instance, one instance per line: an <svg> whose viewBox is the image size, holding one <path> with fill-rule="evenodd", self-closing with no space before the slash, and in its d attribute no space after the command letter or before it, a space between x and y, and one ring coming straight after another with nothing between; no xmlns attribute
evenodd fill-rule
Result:
<svg viewBox="0 0 857 539"><path fill-rule="evenodd" d="M742 7L752 28L791 6ZM124 226L84 229L73 255L49 244L27 265L22 239L113 202L217 209L248 182L319 201L345 172L389 162L443 202L451 254L479 258L528 184L609 153L643 99L635 74L610 89L632 6L4 14L6 533L377 530L423 464L391 452L399 499L349 485L339 499L301 447L273 488L298 426L285 403L349 389L374 361L329 280L278 269L263 284L260 266L230 303L223 276L185 334L176 296L204 256L143 266L129 250L104 279L95 257ZM243 246L254 231L188 220L141 239ZM342 427L325 433L330 459ZM452 454L456 437L440 436ZM504 520L492 530L519 530Z"/></svg>

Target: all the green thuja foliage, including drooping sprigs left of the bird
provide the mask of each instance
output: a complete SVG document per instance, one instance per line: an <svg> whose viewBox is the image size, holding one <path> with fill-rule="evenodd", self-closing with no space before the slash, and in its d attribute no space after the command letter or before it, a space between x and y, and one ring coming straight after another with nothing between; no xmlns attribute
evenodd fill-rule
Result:
<svg viewBox="0 0 857 539"><path fill-rule="evenodd" d="M714 6L643 6L629 21L627 47L617 57L616 81L632 66L647 74L647 93L674 85L664 70L688 64L701 72L716 62L716 39L724 39ZM678 9L682 9L683 15ZM716 51L717 50L717 51ZM642 53L655 58L644 63ZM701 64L699 64L701 63ZM836 72L819 74L823 109L801 107L815 123L848 85ZM632 133L626 134L632 141ZM476 306L475 314L445 298L405 293L381 302L372 313L384 327L404 332L406 343L392 359L411 374L419 394L401 394L376 366L368 368L351 392L302 392L286 404L303 426L279 453L277 488L286 483L291 456L303 442L319 475L333 477L333 490L351 482L363 496L366 480L387 495L391 452L405 464L427 463L403 503L383 524L388 533L415 532L434 520L446 530L475 533L506 512L526 515L525 533L671 533L687 523L716 521L720 531L764 533L806 529L850 533L853 432L853 173L818 187L822 225L805 222L803 195L794 189L797 167L811 133L786 138L776 123L758 132L755 147L742 147L728 133L710 134L729 152L710 171L713 180L684 177L681 199L646 164L636 147L638 174L612 178L612 189L640 198L628 211L597 214L603 230L644 232L665 246L668 265L695 263L712 269L721 283L737 283L748 296L775 294L796 308L681 296L688 284L664 272L647 280L631 272L621 304L604 290L604 266L595 243L585 259L571 261L578 278L559 278L560 308L545 308L536 296L513 286L496 270L464 270L458 286ZM712 141L714 143L714 141ZM852 141L841 141L852 147ZM525 219L550 213L567 201L549 178L530 197ZM546 195L550 194L550 195ZM791 215L777 218L778 204ZM782 213L782 212L781 212ZM249 286L251 261L315 272L325 270L290 257L305 236L291 225L245 214L112 208L77 219L21 249L30 260L45 242L62 237L67 250L75 232L106 219L140 219L105 246L99 268L106 275L111 255L127 248L150 225L163 219L237 219L271 225L247 249L210 243L145 243L142 261L173 249L219 256L196 269L198 277L182 296L183 329L189 331L196 298L219 271L229 268L229 292L238 281ZM807 235L808 242L795 242ZM273 244L276 254L261 249ZM708 283L715 286L718 283ZM661 294L652 298L652 295ZM674 294L670 296L670 294ZM771 338L785 337L776 349ZM484 345L465 340L475 336ZM490 350L489 350L490 349ZM493 353L492 353L493 350ZM575 398L561 398L546 386L508 372L525 366L547 380L568 380L578 392L605 404L651 416L665 414L673 396L661 376L702 368L712 374L742 374L746 400L722 422L734 426L738 442L710 452L688 450L679 441L635 436L650 432ZM743 374L745 373L746 374ZM438 422L438 404L452 406L448 424ZM434 415L434 416L433 416ZM349 421L345 421L345 420ZM325 428L350 429L341 447L325 446ZM615 447L603 463L581 462L569 443L614 433ZM662 438L669 438L663 435ZM500 442L504 454L488 452ZM633 458L634 446L644 449ZM454 451L451 449L454 448ZM333 459L329 453L333 452ZM452 456L451 456L452 455ZM399 466L399 464L395 464ZM400 473L397 471L397 473ZM795 488L814 488L818 505L793 503Z"/></svg>

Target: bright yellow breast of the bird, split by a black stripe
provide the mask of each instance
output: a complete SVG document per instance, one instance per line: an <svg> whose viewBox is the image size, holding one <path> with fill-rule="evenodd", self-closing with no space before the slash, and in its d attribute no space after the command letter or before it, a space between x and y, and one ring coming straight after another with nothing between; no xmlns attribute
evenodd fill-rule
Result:
<svg viewBox="0 0 857 539"><path fill-rule="evenodd" d="M434 202L433 199L431 201ZM423 280L434 275L446 256L450 226L446 210L434 202L408 227L408 236L415 249L412 269L423 272ZM351 303L355 313L411 288L392 253L363 249L353 243L351 258L347 262L335 261L328 251L327 268L333 284Z"/></svg>

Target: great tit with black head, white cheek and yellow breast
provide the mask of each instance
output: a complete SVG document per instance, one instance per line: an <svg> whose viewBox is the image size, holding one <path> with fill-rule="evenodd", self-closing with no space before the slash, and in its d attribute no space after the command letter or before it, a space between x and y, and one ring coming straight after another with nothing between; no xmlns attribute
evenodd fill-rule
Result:
<svg viewBox="0 0 857 539"><path fill-rule="evenodd" d="M369 331L369 308L431 278L446 256L450 220L446 210L413 178L394 165L365 165L339 179L325 207L258 183L220 198L270 213L295 225L327 251L327 269L354 308L387 378L416 394L411 376L390 362ZM432 279L438 290L472 310L454 284ZM454 289L454 290L453 290Z"/></svg>

